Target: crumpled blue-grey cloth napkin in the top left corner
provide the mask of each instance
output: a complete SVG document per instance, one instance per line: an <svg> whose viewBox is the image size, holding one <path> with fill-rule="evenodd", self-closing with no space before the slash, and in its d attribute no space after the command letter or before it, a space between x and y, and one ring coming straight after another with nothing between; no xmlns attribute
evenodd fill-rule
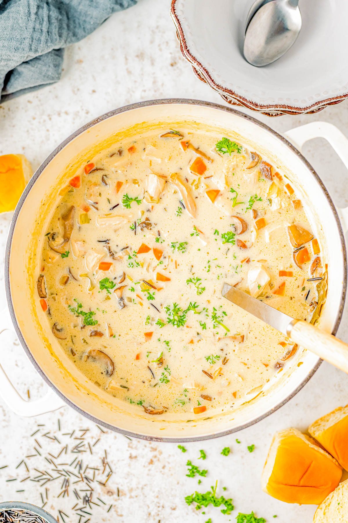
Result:
<svg viewBox="0 0 348 523"><path fill-rule="evenodd" d="M0 0L1 103L57 82L64 48L137 0Z"/></svg>

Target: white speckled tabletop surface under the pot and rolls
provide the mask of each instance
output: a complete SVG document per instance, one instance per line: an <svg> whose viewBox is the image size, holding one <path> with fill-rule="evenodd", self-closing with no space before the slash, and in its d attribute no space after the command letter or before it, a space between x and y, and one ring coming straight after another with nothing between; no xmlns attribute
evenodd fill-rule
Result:
<svg viewBox="0 0 348 523"><path fill-rule="evenodd" d="M0 154L26 154L33 168L37 168L68 134L103 112L135 101L167 97L222 103L219 95L199 82L190 65L182 59L169 15L169 2L140 0L137 6L113 16L93 35L67 50L61 82L0 106ZM345 102L318 115L273 119L261 116L260 119L280 132L322 119L334 123L348 135L348 105ZM334 202L341 207L347 206L347 173L328 144L315 140L306 145L304 152L327 184ZM4 215L0 217L2 258L9 219ZM0 310L4 305L2 270ZM345 314L339 335L348 341L347 318ZM42 395L46 385L23 354L15 335L6 332L1 335L0 343L0 361L21 393L25 395L29 388L33 398ZM94 452L102 457L103 449L108 450L114 475L107 484L110 488L104 489L101 497L105 501L110 500L114 506L107 515L105 511L98 513L99 508L95 507L91 523L157 523L158 520L162 523L204 523L209 517L212 523L220 523L234 521L238 511L249 513L251 510L268 522L274 521L272 516L277 514L275 521L279 523L296 520L310 523L315 507L286 505L261 491L263 462L274 431L289 426L305 430L317 417L346 403L348 376L323 363L294 399L263 422L231 437L186 444L188 451L185 454L175 444L152 444L137 439L128 441L114 433L102 435L102 441ZM5 482L16 477L17 473L20 479L25 477L22 466L17 470L15 467L23 456L32 453L33 438L29 435L37 424L45 424L47 431L54 430L60 418L64 432L91 427L94 440L99 430L69 407L38 418L25 419L11 413L1 399L0 404L0 467L9 465L0 470L0 501L22 499L41 504L36 483ZM236 444L236 438L241 440L240 445ZM247 445L251 444L256 447L253 453L247 451ZM55 445L52 442L53 454L59 448ZM232 448L229 457L220 455L225 446ZM206 451L206 461L197 461L199 449ZM185 476L187 459L209 471L207 478L202 478L199 488L196 479ZM30 468L41 467L36 458L28 458L27 462ZM235 510L231 516L222 515L218 508L208 508L206 515L201 515L193 506L185 504L184 496L193 493L196 488L199 492L206 492L217 479L221 494L234 499ZM51 496L53 492L60 492L61 484L58 483L50 486ZM227 487L225 492L221 490L222 486ZM115 494L117 487L118 498ZM25 488L24 493L16 493L22 488ZM69 515L69 507L74 504L70 494L68 499L61 496L50 501L45 508L55 516L58 508ZM78 518L71 516L66 521L75 522Z"/></svg>

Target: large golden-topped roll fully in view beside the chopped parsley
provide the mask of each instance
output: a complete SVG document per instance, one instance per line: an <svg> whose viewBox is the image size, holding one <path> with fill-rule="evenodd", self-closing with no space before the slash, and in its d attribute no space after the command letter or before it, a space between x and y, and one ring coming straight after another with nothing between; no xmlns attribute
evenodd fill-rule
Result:
<svg viewBox="0 0 348 523"><path fill-rule="evenodd" d="M261 476L267 494L286 503L319 505L339 484L342 468L295 428L274 435Z"/></svg>

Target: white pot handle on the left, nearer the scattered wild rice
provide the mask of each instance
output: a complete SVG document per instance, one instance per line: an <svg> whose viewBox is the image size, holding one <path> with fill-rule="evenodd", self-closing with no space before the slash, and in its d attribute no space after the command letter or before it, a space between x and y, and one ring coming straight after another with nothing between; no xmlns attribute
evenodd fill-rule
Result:
<svg viewBox="0 0 348 523"><path fill-rule="evenodd" d="M0 313L0 335L6 330L15 331L8 308ZM66 407L66 403L52 389L49 389L39 400L24 400L9 380L1 363L0 396L13 412L22 417L39 416L46 412L56 411L57 408Z"/></svg>

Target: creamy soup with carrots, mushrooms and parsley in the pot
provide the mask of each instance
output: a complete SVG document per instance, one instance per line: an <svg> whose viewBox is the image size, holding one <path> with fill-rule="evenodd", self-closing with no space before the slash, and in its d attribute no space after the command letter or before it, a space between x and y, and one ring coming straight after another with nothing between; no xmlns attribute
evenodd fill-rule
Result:
<svg viewBox="0 0 348 523"><path fill-rule="evenodd" d="M86 158L60 189L38 299L101 389L191 419L248 401L289 365L297 347L221 295L227 282L318 317L320 245L277 165L221 135L163 129Z"/></svg>

